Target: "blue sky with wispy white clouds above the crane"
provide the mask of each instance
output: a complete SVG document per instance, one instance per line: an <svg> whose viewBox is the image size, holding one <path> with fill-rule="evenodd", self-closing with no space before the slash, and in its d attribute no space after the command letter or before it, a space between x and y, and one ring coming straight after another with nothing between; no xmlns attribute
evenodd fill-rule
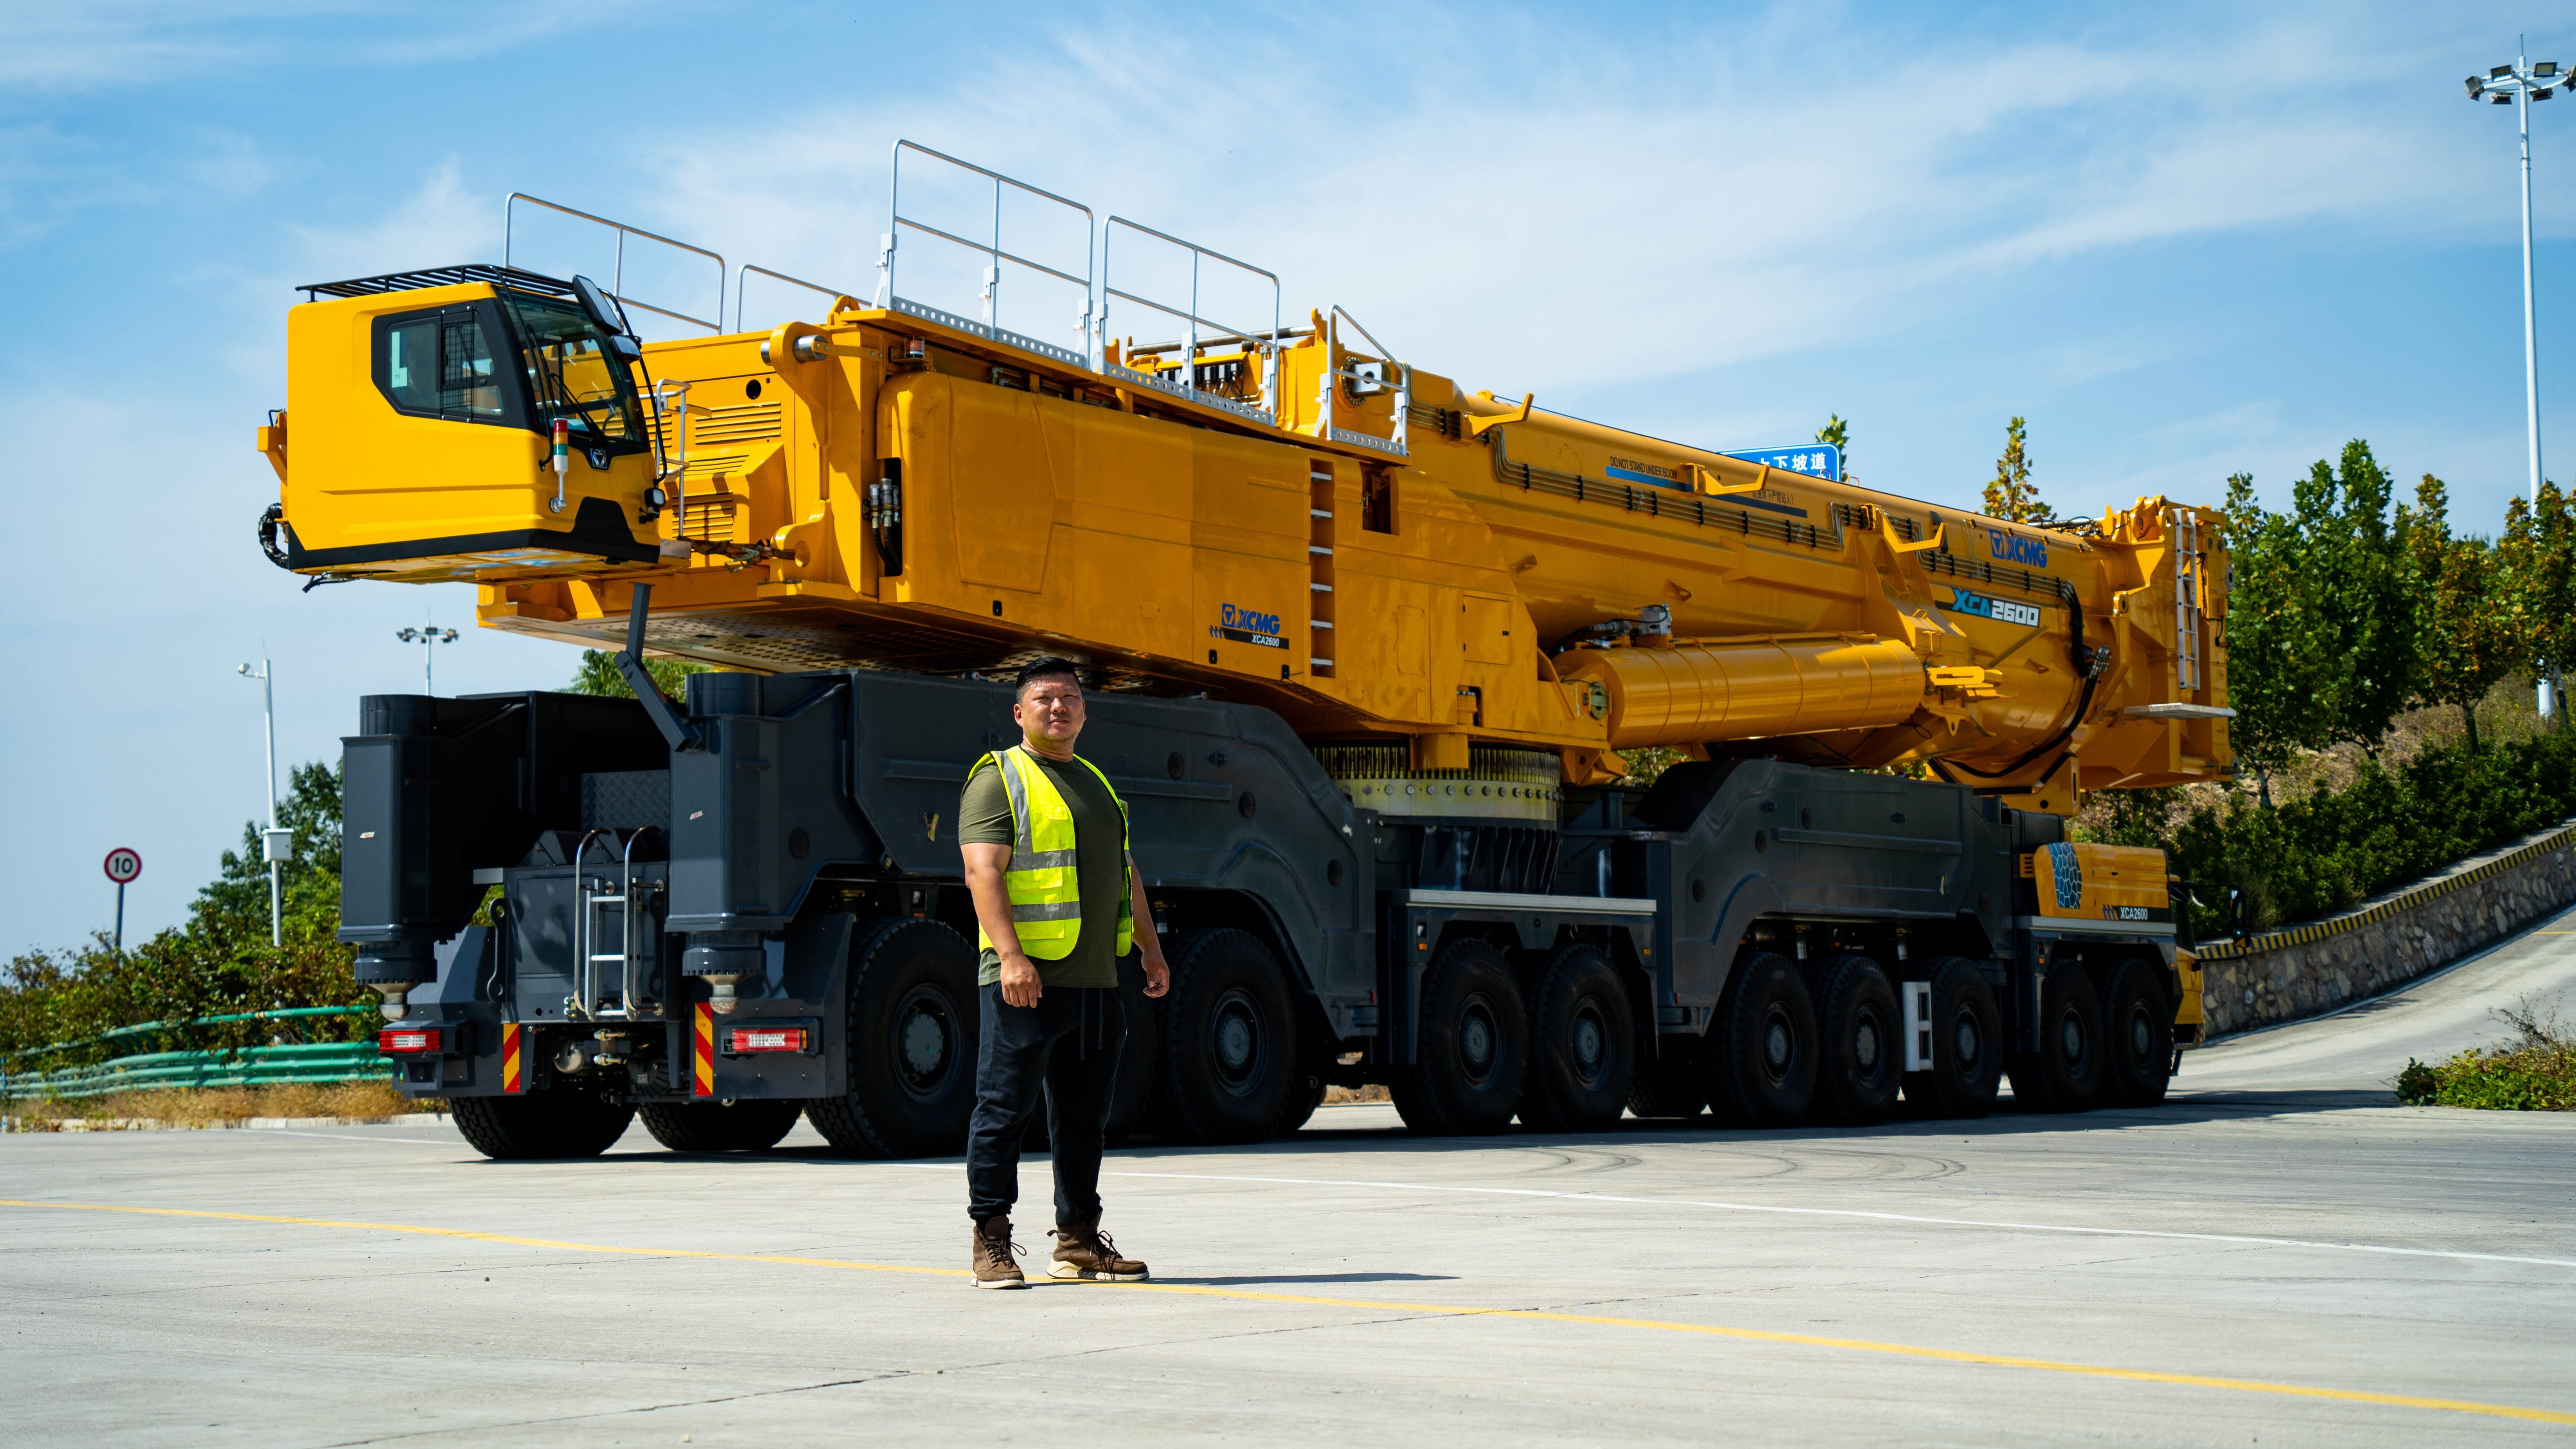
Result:
<svg viewBox="0 0 2576 1449"><path fill-rule="evenodd" d="M237 663L276 660L281 758L327 758L361 694L420 686L394 629L471 619L466 588L299 596L250 431L294 284L497 260L513 188L866 291L912 137L1471 389L1713 446L1842 413L1855 474L1917 498L1973 503L2009 415L2066 513L2239 469L2282 500L2347 438L2481 531L2522 487L2514 124L2460 77L2548 8L1319 10L0 8L0 949L103 928L111 846L147 861L129 936L183 915L260 812ZM2576 103L2535 126L2543 431L2576 459ZM572 673L440 655L440 694Z"/></svg>

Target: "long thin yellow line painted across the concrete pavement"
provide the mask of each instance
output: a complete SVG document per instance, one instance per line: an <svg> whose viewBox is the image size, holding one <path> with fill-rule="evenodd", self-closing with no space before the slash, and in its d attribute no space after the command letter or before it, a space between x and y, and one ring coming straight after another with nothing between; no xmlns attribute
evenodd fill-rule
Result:
<svg viewBox="0 0 2576 1449"><path fill-rule="evenodd" d="M963 1279L971 1276L966 1269L920 1269L909 1263L860 1263L853 1258L796 1258L786 1253L711 1253L701 1248L618 1248L611 1243L562 1243L554 1238L518 1238L510 1232L469 1232L464 1227L422 1227L415 1222L345 1222L335 1217L273 1217L263 1212L204 1212L185 1207L118 1207L100 1201L23 1201L0 1199L0 1207L49 1207L59 1212L121 1212L134 1217L201 1217L216 1222L276 1222L286 1227L355 1227L363 1232L410 1232L417 1238L464 1238L469 1243L505 1243L513 1248L556 1248L564 1253L611 1253L621 1258L706 1258L719 1263L786 1263L796 1269L842 1269L860 1274L917 1274L933 1279ZM1924 1348L1917 1343L1875 1343L1870 1338L1824 1338L1816 1333L1775 1333L1770 1328L1723 1328L1716 1323L1672 1323L1662 1318L1610 1318L1597 1312L1551 1312L1540 1307L1461 1307L1453 1302L1381 1302L1360 1297L1309 1297L1309 1294L1265 1294L1249 1289L1211 1289L1198 1284L1097 1284L1097 1281L1054 1281L1036 1279L1048 1287L1087 1287L1087 1289L1126 1289L1126 1292L1157 1292L1157 1294L1188 1294L1188 1297L1221 1297L1239 1302L1288 1302L1301 1307L1355 1307L1365 1312L1422 1312L1435 1318L1520 1318L1533 1323L1589 1323L1597 1328L1651 1328L1656 1333L1698 1333L1705 1338L1739 1338L1749 1343L1798 1343L1803 1348L1844 1348L1852 1354L1896 1354L1901 1359L1932 1359L1942 1364L1984 1364L1991 1369L2038 1369L2048 1374L2079 1374L2089 1379L2128 1379L2138 1385L2184 1385L2197 1390L2236 1390L2249 1395L2285 1395L2285 1397L2316 1397L2339 1403L2370 1403L2385 1408L2432 1408L2442 1413L2476 1413L2486 1418L2524 1418L2532 1423L2576 1423L2576 1413L2561 1413L2550 1408L2519 1408L2509 1403L2476 1403L2455 1397L2416 1397L2416 1395L2378 1395L2365 1390L2326 1390L2316 1385L2275 1385L2267 1379L2221 1379L2210 1374L2166 1374L2156 1369L2115 1369L2107 1364L2066 1364L2058 1359L2014 1359L2009 1354L1971 1354L1960 1348Z"/></svg>

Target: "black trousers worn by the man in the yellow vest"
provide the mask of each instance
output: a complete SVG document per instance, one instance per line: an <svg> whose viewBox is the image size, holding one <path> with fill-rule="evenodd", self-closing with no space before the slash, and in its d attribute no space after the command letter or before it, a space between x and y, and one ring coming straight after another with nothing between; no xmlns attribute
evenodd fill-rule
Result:
<svg viewBox="0 0 2576 1449"><path fill-rule="evenodd" d="M1020 1137L1046 1093L1046 1142L1056 1160L1056 1222L1100 1220L1100 1140L1110 1122L1126 1008L1110 987L1046 987L1038 1006L1010 1006L984 987L984 1036L974 1060L974 1124L966 1129L966 1212L984 1222L1020 1201Z"/></svg>

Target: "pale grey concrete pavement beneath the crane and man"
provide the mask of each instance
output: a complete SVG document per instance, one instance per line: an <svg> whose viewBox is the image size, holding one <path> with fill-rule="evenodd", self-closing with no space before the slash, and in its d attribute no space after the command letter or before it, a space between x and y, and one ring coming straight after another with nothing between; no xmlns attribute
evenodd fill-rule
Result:
<svg viewBox="0 0 2576 1449"><path fill-rule="evenodd" d="M2576 975L2576 936L2488 962L2210 1049L2154 1111L1414 1140L1347 1106L1123 1150L1146 1289L969 1292L958 1165L804 1127L592 1163L435 1122L5 1137L0 1199L52 1207L0 1207L0 1413L10 1444L2566 1444L2576 1119L2378 1085Z"/></svg>

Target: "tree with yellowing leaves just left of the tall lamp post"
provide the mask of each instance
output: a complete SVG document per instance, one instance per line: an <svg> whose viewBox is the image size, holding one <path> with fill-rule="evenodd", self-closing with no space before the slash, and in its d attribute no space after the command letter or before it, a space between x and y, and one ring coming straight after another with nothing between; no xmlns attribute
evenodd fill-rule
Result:
<svg viewBox="0 0 2576 1449"><path fill-rule="evenodd" d="M2496 552L2486 539L2452 536L2450 492L2429 472L2416 485L2416 505L2398 508L2398 541L2421 621L2416 696L2458 706L2468 748L2476 750L2478 701L2530 657L2512 601L2496 580Z"/></svg>

